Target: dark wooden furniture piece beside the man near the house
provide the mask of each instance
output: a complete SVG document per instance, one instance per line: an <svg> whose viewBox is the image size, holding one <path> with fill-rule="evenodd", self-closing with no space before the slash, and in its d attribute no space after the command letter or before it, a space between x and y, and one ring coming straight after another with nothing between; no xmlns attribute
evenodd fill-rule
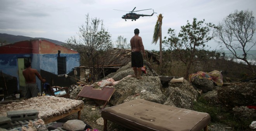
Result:
<svg viewBox="0 0 256 131"><path fill-rule="evenodd" d="M50 84L46 84L46 86L43 87L43 90L45 94L49 96L70 98L68 87L59 87L59 86L51 87Z"/></svg>

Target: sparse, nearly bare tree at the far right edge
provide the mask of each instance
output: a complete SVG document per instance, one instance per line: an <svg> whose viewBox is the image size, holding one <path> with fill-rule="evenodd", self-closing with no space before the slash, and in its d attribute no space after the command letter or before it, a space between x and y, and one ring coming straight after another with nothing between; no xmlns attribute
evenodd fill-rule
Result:
<svg viewBox="0 0 256 131"><path fill-rule="evenodd" d="M247 64L247 69L255 73L247 56L249 50L256 45L253 39L255 34L255 17L251 11L237 11L231 13L219 23L216 29L218 43L224 45L224 49L230 50L235 58L243 60ZM237 50L242 50L243 54L238 55Z"/></svg>

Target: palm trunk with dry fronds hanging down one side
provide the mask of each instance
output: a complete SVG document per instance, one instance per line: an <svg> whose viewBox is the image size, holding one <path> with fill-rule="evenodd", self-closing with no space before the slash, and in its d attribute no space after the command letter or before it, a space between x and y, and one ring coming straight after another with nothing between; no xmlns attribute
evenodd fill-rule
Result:
<svg viewBox="0 0 256 131"><path fill-rule="evenodd" d="M163 20L163 16L160 13L157 17L157 21L156 21L156 25L155 25L155 29L154 29L154 35L153 35L153 40L152 40L152 44L157 43L158 39L160 39L159 42L159 46L160 46L160 64L162 63L162 59L163 59L163 53L162 53L162 20Z"/></svg>

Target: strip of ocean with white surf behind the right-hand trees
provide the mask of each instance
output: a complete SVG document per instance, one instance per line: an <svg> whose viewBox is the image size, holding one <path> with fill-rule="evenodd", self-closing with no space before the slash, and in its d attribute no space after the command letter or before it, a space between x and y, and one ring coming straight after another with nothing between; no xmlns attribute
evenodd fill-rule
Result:
<svg viewBox="0 0 256 131"><path fill-rule="evenodd" d="M235 58L234 55L231 54L230 50L219 50L218 52L224 52L225 58L228 60L233 59L234 62L237 62L237 63L242 62L243 64L246 64L243 60ZM243 57L242 50L236 50L236 52L237 52L238 56L240 56L241 58ZM222 54L221 54L221 56L222 56ZM249 50L247 52L247 60L248 60L248 62L251 62L252 65L256 65L256 50Z"/></svg>

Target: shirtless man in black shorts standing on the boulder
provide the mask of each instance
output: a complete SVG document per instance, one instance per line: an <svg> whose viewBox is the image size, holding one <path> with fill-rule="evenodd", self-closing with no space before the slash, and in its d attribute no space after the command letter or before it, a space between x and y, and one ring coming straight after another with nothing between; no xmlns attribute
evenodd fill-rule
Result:
<svg viewBox="0 0 256 131"><path fill-rule="evenodd" d="M144 50L144 45L142 43L142 38L138 36L140 33L139 29L134 30L134 36L131 38L131 67L133 67L134 75L137 79L142 79L141 77L141 67L143 67L143 57L140 51L143 52L145 57L146 53Z"/></svg>

